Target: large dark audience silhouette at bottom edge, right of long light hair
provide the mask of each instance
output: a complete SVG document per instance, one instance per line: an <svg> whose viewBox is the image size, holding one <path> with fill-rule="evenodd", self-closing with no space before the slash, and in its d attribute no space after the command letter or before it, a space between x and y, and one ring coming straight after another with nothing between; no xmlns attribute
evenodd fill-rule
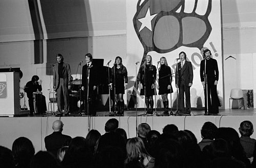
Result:
<svg viewBox="0 0 256 168"><path fill-rule="evenodd" d="M164 139L157 144L155 167L184 168L185 160L185 151L178 141Z"/></svg>

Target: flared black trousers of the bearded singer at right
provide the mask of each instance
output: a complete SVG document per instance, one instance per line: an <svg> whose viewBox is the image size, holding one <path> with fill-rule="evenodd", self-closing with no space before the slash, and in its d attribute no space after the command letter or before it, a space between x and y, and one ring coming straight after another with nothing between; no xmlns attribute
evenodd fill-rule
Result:
<svg viewBox="0 0 256 168"><path fill-rule="evenodd" d="M214 85L215 80L208 80L207 82L207 92L208 92L208 112L209 113L219 113L220 101L217 94L217 85ZM205 86L206 88L206 86ZM206 89L205 89L206 90ZM204 91L204 104L205 104L205 113L207 112L207 99L206 91Z"/></svg>

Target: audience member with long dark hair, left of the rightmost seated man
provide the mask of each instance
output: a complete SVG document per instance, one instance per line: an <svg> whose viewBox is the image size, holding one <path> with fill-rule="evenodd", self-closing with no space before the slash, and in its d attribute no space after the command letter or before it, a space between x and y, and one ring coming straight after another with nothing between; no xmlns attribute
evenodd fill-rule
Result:
<svg viewBox="0 0 256 168"><path fill-rule="evenodd" d="M250 161L246 158L244 149L241 145L238 132L233 128L218 128L216 138L222 138L227 141L231 156L245 163L246 167L250 167Z"/></svg>

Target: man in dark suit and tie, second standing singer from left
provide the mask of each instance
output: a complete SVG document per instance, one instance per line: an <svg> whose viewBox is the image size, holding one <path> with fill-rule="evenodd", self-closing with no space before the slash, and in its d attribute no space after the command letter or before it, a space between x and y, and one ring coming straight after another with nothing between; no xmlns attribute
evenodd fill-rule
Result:
<svg viewBox="0 0 256 168"><path fill-rule="evenodd" d="M85 55L85 58L86 58L86 65L82 66L82 87L81 87L81 89L84 91L84 109L86 109L86 111L87 109L89 109L89 115L95 116L96 115L95 104L96 104L96 95L97 95L97 86L98 86L97 78L99 77L99 75L98 75L97 67L93 64L92 54L87 53ZM89 83L89 87L88 87L88 83Z"/></svg>

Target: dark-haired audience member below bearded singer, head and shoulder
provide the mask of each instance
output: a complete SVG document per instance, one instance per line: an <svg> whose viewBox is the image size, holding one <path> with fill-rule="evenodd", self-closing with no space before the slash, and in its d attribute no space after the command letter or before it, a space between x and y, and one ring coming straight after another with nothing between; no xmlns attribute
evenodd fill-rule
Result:
<svg viewBox="0 0 256 168"><path fill-rule="evenodd" d="M203 138L201 142L198 143L201 151L207 145L210 145L212 141L214 141L216 131L218 127L211 122L205 122L201 129L201 137Z"/></svg>

